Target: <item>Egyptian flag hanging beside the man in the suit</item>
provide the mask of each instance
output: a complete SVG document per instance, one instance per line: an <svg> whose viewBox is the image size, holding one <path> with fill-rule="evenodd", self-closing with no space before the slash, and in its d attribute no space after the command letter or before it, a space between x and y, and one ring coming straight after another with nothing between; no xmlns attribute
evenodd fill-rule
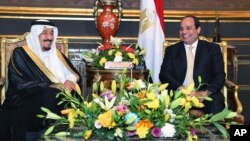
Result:
<svg viewBox="0 0 250 141"><path fill-rule="evenodd" d="M152 73L153 82L159 82L163 61L164 36L163 0L140 1L138 44L146 50L145 63Z"/></svg>

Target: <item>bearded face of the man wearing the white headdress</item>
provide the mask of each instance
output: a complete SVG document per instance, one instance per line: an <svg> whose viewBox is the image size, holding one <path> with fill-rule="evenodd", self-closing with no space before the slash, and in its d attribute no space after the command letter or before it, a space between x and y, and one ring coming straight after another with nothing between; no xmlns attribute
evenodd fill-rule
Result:
<svg viewBox="0 0 250 141"><path fill-rule="evenodd" d="M39 42L42 51L50 50L52 42L54 41L54 31L52 28L44 27L42 33L39 35Z"/></svg>

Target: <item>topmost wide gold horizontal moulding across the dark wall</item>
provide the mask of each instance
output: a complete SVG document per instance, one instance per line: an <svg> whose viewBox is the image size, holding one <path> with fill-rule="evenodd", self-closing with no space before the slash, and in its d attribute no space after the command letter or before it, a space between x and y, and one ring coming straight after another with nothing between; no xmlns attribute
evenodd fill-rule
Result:
<svg viewBox="0 0 250 141"><path fill-rule="evenodd" d="M117 10L114 10L117 12ZM93 16L93 9L83 8L48 8L48 7L17 7L0 6L0 14L17 15L50 15L50 16ZM180 18L185 15L196 15L200 18L214 18L217 15L220 18L250 18L250 11L241 10L164 10L165 18ZM123 10L123 17L140 17L140 10Z"/></svg>

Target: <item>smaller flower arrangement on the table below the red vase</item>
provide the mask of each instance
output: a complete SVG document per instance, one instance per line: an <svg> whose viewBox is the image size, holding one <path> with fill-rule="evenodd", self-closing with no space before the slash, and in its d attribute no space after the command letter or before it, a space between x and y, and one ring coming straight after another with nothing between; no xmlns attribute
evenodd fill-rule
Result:
<svg viewBox="0 0 250 141"><path fill-rule="evenodd" d="M97 50L91 52L83 52L82 56L90 62L94 68L103 69L105 62L123 62L130 61L134 65L138 65L141 62L142 56L145 50L141 50L138 45L135 48L122 45L123 41L120 38L114 38L111 36L110 44L100 44Z"/></svg>

